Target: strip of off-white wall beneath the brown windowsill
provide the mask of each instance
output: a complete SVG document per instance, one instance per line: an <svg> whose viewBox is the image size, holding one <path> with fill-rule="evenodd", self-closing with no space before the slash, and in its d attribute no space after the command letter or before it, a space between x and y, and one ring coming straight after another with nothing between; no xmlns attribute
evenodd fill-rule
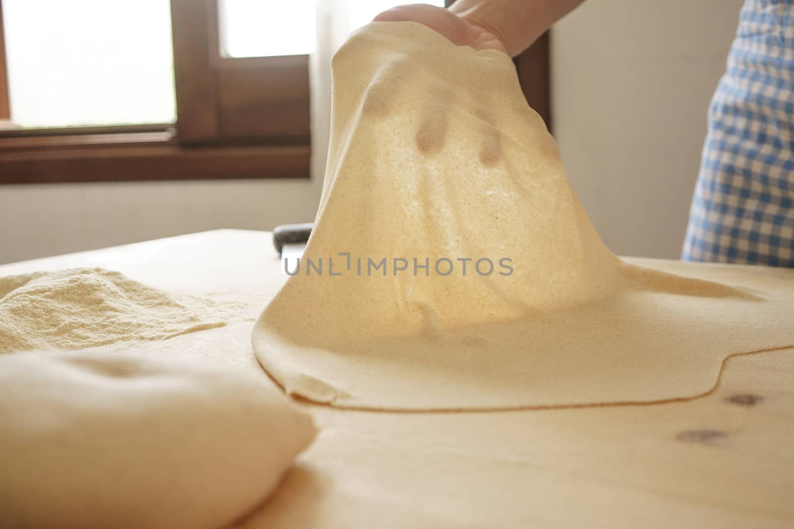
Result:
<svg viewBox="0 0 794 529"><path fill-rule="evenodd" d="M215 228L311 222L318 179L0 186L0 263Z"/></svg>

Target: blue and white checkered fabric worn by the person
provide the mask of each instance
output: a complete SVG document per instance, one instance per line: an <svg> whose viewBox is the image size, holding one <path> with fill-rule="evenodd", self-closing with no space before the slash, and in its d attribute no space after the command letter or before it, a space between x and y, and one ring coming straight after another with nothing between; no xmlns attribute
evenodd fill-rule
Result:
<svg viewBox="0 0 794 529"><path fill-rule="evenodd" d="M794 266L794 0L746 0L682 259Z"/></svg>

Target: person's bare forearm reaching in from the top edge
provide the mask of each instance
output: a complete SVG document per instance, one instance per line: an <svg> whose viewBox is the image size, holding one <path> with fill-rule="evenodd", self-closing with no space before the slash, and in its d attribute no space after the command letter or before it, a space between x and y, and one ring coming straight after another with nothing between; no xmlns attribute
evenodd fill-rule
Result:
<svg viewBox="0 0 794 529"><path fill-rule="evenodd" d="M449 9L499 36L507 53L517 56L582 2L584 0L457 0Z"/></svg>

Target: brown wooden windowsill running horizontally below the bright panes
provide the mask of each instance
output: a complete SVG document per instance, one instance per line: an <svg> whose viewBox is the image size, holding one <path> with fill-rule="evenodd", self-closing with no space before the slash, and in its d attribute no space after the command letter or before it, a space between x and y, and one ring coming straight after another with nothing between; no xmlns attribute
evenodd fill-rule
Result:
<svg viewBox="0 0 794 529"><path fill-rule="evenodd" d="M80 134L0 130L0 185L309 178L309 144L183 147L166 126Z"/></svg>

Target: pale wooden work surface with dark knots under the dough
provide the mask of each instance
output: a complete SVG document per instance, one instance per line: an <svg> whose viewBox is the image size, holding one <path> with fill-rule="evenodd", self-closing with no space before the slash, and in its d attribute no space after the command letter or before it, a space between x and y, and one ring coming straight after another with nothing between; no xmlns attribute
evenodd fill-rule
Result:
<svg viewBox="0 0 794 529"><path fill-rule="evenodd" d="M286 277L278 265L268 232L222 230L3 265L0 275L102 266L172 292L245 301L225 328L141 351L260 370L249 336ZM794 270L762 267L665 268L716 280L752 274L767 288L794 280ZM301 405L322 431L246 529L794 527L794 349L731 357L710 393L668 404L477 413Z"/></svg>

